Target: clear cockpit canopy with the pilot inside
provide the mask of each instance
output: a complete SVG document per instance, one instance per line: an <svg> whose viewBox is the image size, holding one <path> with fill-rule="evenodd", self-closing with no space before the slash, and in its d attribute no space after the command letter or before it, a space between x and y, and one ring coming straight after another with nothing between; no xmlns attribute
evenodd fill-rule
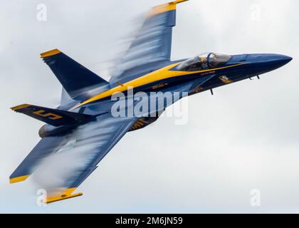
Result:
<svg viewBox="0 0 299 228"><path fill-rule="evenodd" d="M179 64L179 71L201 71L209 68L217 68L224 65L231 59L231 56L218 53L203 53L194 58Z"/></svg>

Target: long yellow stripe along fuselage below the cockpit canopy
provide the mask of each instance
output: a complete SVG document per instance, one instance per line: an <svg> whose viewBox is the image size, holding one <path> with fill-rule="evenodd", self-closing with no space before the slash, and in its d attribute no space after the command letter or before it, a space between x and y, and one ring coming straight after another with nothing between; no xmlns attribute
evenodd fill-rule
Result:
<svg viewBox="0 0 299 228"><path fill-rule="evenodd" d="M180 62L182 63L182 62ZM83 105L86 105L88 103L92 103L96 100L101 100L103 98L110 97L111 95L115 93L125 92L128 90L128 88L138 88L140 86L145 86L150 83L154 83L155 81L160 81L167 78L174 78L174 77L180 77L180 76L188 76L192 75L194 73L204 73L209 71L217 71L225 68L231 68L234 66L240 66L243 65L243 63L232 65L232 66L224 66L221 68L212 68L202 71L169 71L170 69L174 68L175 66L178 66L180 63L174 63L169 66L166 66L164 68L160 68L157 71L153 71L151 73L147 73L145 76L141 76L140 78L136 78L132 81L129 81L127 83L122 84L122 86L117 86L115 88L111 88L110 90L107 90L103 93L100 93L98 95L95 95L93 98L90 98L88 100L85 100L83 103L80 103L78 105L75 105L75 107L71 108L70 110L74 110L76 108L79 108Z"/></svg>

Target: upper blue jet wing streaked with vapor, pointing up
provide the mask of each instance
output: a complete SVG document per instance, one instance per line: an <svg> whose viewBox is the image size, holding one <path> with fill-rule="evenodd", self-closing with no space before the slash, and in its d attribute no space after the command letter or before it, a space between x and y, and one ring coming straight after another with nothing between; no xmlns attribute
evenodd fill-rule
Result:
<svg viewBox="0 0 299 228"><path fill-rule="evenodd" d="M188 0L155 6L148 12L135 40L120 63L117 63L110 83L124 83L125 78L144 72L150 63L170 60L177 4L183 1Z"/></svg>

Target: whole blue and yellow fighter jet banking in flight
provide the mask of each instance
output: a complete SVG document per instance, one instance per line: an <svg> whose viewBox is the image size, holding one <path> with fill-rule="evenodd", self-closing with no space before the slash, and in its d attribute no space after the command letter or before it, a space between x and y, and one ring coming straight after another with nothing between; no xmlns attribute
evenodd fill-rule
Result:
<svg viewBox="0 0 299 228"><path fill-rule="evenodd" d="M65 175L57 177L64 179L55 191L53 187L49 190L52 194L48 195L47 202L82 195L73 192L125 133L144 128L159 118L159 115L115 118L111 113L116 102L111 98L115 93L128 95L128 88L147 95L154 91L185 92L188 95L206 90L212 92L219 86L259 77L292 60L278 54L203 53L194 58L171 61L172 27L176 24L177 4L183 1L187 0L172 1L150 10L109 82L58 49L41 53L41 58L63 86L61 105L56 109L28 104L12 108L46 125L39 130L41 141L10 176L11 183L26 180L53 154L69 150L68 155L72 157L73 150L83 150L79 165L78 162L68 164L68 159L65 161ZM173 99L172 103L175 101ZM162 110L158 111L172 103L162 105Z"/></svg>

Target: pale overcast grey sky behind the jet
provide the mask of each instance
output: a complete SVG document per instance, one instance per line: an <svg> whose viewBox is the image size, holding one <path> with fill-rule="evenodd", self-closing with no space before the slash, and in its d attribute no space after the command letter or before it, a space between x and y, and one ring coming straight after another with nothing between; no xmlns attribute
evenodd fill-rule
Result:
<svg viewBox="0 0 299 228"><path fill-rule="evenodd" d="M109 79L107 61L139 16L164 0L0 0L0 212L299 212L299 2L192 0L180 4L172 59L198 53L281 53L294 59L261 76L189 98L189 121L162 118L128 133L80 185L83 197L36 206L36 186L9 175L43 123L12 112L56 107L61 85L39 58L59 48ZM36 6L46 4L47 21ZM261 14L256 16L260 10ZM251 190L261 207L251 207Z"/></svg>

